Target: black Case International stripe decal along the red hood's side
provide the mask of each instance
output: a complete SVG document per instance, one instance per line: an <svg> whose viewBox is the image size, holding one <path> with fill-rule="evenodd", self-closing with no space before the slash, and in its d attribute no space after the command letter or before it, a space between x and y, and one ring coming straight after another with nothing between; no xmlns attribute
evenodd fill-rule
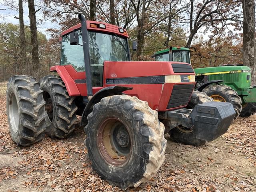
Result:
<svg viewBox="0 0 256 192"><path fill-rule="evenodd" d="M161 83L164 83L164 76L106 79L106 84L161 84Z"/></svg>

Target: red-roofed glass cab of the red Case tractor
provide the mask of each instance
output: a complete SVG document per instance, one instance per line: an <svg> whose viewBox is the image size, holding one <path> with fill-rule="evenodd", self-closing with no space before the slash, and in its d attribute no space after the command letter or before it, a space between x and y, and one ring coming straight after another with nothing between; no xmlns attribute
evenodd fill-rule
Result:
<svg viewBox="0 0 256 192"><path fill-rule="evenodd" d="M102 87L104 61L130 61L126 30L107 23L86 21L92 86ZM60 65L85 72L81 24L61 34Z"/></svg>

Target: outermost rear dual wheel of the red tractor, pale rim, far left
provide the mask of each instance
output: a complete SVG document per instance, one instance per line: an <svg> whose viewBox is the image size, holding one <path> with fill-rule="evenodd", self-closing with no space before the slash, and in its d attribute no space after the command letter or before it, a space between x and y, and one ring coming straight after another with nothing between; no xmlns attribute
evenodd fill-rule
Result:
<svg viewBox="0 0 256 192"><path fill-rule="evenodd" d="M36 78L12 76L7 83L6 112L12 140L30 146L44 138L45 101Z"/></svg>

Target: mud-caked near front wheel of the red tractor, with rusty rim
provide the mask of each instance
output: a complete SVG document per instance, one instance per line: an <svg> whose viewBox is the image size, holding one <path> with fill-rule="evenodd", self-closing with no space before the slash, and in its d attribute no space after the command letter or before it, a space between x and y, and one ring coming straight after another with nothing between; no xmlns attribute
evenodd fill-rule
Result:
<svg viewBox="0 0 256 192"><path fill-rule="evenodd" d="M150 180L159 170L167 141L158 113L147 102L108 96L87 118L88 157L101 178L125 190Z"/></svg>

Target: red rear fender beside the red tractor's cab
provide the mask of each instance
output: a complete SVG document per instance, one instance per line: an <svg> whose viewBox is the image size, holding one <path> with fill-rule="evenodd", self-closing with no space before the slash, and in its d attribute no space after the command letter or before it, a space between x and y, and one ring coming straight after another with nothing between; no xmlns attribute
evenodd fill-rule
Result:
<svg viewBox="0 0 256 192"><path fill-rule="evenodd" d="M66 89L68 91L69 96L80 96L80 92L74 82L74 79L70 76L65 66L52 66L50 68L50 72L57 72L60 78L63 80Z"/></svg>

